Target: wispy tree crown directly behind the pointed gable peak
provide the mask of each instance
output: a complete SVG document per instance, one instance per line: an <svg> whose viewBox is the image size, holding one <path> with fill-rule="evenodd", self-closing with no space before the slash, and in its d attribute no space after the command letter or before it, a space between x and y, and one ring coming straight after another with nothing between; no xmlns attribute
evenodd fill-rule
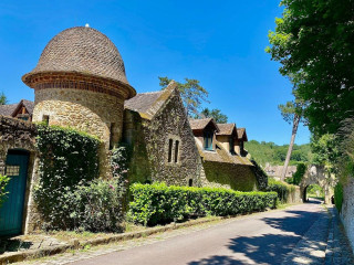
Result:
<svg viewBox="0 0 354 265"><path fill-rule="evenodd" d="M167 76L158 78L162 89L165 89L171 82L171 80ZM185 83L176 83L187 114L189 117L191 117L192 115L198 115L198 109L200 108L202 102L208 102L208 92L201 85L199 85L199 81L197 80L185 78Z"/></svg>

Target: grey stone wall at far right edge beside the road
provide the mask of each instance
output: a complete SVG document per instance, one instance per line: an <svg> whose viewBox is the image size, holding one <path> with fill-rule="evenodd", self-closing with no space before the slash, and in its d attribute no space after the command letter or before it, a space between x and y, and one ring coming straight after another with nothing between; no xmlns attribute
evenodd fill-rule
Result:
<svg viewBox="0 0 354 265"><path fill-rule="evenodd" d="M350 177L347 183L343 184L343 205L341 219L346 235L354 250L354 178Z"/></svg>

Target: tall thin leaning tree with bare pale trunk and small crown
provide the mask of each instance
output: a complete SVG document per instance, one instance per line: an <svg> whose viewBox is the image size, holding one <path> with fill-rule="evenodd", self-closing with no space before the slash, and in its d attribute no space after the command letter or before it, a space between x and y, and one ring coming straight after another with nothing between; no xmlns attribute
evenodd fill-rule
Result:
<svg viewBox="0 0 354 265"><path fill-rule="evenodd" d="M291 124L292 123L292 132L291 132L291 138L290 138L290 145L288 148L288 153L283 167L283 171L281 173L281 180L285 179L287 174L287 169L290 162L291 158L291 152L295 142L295 137L299 128L299 124L302 119L302 114L303 114L303 106L304 104L295 100L295 102L288 102L285 105L279 105L278 108L281 112L281 115L283 116L283 119Z"/></svg>

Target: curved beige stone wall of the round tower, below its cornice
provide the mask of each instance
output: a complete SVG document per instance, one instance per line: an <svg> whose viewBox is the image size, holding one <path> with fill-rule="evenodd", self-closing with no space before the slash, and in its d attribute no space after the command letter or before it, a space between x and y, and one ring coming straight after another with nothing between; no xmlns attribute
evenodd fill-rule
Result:
<svg viewBox="0 0 354 265"><path fill-rule="evenodd" d="M34 103L33 121L42 121L48 115L50 125L95 135L106 149L110 141L117 145L121 140L124 103L119 97L72 88L45 88L35 91Z"/></svg>

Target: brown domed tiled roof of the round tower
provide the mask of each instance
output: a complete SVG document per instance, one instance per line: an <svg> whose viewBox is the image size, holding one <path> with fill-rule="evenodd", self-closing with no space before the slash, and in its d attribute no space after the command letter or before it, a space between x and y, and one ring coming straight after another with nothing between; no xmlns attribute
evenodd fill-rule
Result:
<svg viewBox="0 0 354 265"><path fill-rule="evenodd" d="M22 80L32 86L32 77L43 73L79 73L115 81L134 89L126 80L117 47L106 35L88 26L71 28L55 35L46 44L35 68Z"/></svg>

